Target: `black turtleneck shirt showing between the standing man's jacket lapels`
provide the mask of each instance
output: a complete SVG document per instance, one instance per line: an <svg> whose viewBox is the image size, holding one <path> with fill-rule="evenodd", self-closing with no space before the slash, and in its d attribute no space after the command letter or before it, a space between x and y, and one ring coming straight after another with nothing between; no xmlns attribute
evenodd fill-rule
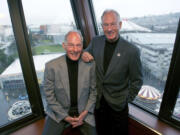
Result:
<svg viewBox="0 0 180 135"><path fill-rule="evenodd" d="M103 66L104 66L104 75L106 74L106 71L108 69L109 63L111 61L111 58L113 56L114 50L117 46L117 43L119 41L116 40L115 42L109 42L106 40L105 42L105 47L104 47L104 62L103 62Z"/></svg>

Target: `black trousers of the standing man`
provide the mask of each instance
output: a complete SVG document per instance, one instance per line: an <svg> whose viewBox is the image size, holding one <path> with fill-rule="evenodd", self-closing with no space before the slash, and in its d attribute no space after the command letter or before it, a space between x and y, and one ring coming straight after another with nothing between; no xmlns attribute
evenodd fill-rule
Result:
<svg viewBox="0 0 180 135"><path fill-rule="evenodd" d="M128 135L128 105L122 111L115 111L103 97L95 118L98 135Z"/></svg>

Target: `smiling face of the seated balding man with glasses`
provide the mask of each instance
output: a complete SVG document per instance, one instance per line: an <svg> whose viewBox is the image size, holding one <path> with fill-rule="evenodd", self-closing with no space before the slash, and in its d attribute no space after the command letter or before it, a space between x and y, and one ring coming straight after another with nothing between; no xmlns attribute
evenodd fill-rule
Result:
<svg viewBox="0 0 180 135"><path fill-rule="evenodd" d="M71 32L67 37L67 43L63 43L63 48L71 60L78 60L83 49L80 35L76 32Z"/></svg>

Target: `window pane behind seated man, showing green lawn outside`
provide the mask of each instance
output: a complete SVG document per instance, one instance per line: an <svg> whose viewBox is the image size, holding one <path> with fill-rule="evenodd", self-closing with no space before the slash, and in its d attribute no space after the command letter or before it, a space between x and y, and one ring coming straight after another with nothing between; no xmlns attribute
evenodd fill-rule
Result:
<svg viewBox="0 0 180 135"><path fill-rule="evenodd" d="M22 4L40 91L46 108L43 93L45 63L64 54L64 36L69 30L76 29L76 24L69 0L22 0Z"/></svg>

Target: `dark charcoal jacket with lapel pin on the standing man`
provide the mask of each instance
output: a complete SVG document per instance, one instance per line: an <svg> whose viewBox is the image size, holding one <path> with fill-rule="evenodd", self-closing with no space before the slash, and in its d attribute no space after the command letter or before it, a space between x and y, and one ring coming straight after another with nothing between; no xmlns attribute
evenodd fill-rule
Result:
<svg viewBox="0 0 180 135"><path fill-rule="evenodd" d="M142 66L140 51L120 37L106 74L103 75L105 36L93 38L86 51L96 62L97 108L102 94L108 104L116 111L121 111L138 94L142 84Z"/></svg>

